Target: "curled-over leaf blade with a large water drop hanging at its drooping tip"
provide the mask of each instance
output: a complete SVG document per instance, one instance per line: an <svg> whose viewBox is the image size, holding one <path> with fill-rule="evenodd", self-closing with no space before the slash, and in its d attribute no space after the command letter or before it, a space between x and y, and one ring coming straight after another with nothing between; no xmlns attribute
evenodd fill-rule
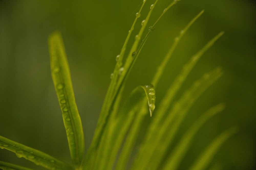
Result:
<svg viewBox="0 0 256 170"><path fill-rule="evenodd" d="M144 100L145 94L147 100ZM142 101L144 102L142 103ZM94 169L113 168L114 161L122 146L124 138L127 135L130 127L134 126L134 119L136 119L138 114L140 114L139 110L145 106L146 102L148 103L150 113L152 113L155 108L155 89L151 84L138 86L135 88L125 102L124 106L119 111L118 115L111 118L111 122L109 122L108 126L106 126L104 133L105 136L102 137ZM147 109L146 112L148 112ZM127 140L129 140L128 137ZM110 147L105 147L106 143L112 143L112 145ZM123 147L123 149L124 148L126 147Z"/></svg>

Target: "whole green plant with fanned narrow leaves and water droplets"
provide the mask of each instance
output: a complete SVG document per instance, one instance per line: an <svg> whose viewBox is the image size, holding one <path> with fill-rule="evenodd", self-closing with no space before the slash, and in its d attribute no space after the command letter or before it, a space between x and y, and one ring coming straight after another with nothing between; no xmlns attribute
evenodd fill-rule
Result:
<svg viewBox="0 0 256 170"><path fill-rule="evenodd" d="M121 49L121 53L116 58L117 63L111 76L111 83L102 106L95 135L86 155L83 155L84 139L82 124L74 99L64 45L59 32L55 32L49 37L51 73L62 110L63 122L66 128L73 165L68 165L43 152L26 147L4 137L0 137L0 148L10 150L19 158L23 157L47 169L125 169L127 166L127 168L131 169L178 168L189 145L191 145L191 140L197 130L211 116L224 109L224 105L220 103L202 114L202 116L194 122L191 128L184 133L184 136L180 139L176 147L169 152L169 147L172 144L174 136L180 128L181 122L188 113L190 107L195 100L221 76L221 69L216 68L209 73L205 73L202 78L195 81L194 84L185 91L184 95L175 102L173 101L174 96L202 54L213 45L223 32L219 33L209 41L198 53L192 56L183 67L173 85L167 90L166 96L161 100L157 107L158 110L153 114L152 121L148 125L146 133L143 136L143 141L140 142L140 149L137 151L134 162L127 165L129 156L132 154L136 139L140 133L140 129L142 129L145 116L148 116L148 113L150 113L151 116L155 110L155 88L158 85L166 63L190 25L203 13L203 11L201 11L180 32L179 36L175 38L173 46L158 67L151 84L139 86L134 89L127 101L121 105L125 81L134 62L140 54L144 43L147 41L151 32L154 31L155 25L159 19L170 7L177 3L177 1L173 1L166 9L164 9L156 22L148 27L147 22L157 4L157 0L151 5L150 11L148 12L146 19L143 20L142 27L136 35L133 46L123 64L127 43L135 27L137 18L140 17L140 12L144 7L145 2L146 1L144 0L140 10L136 14L135 21L125 40L123 48ZM148 28L148 32L144 38L141 39L146 28ZM169 107L171 104L173 104L172 107ZM236 128L232 127L213 140L206 150L202 152L202 155L195 160L191 169L204 169L220 145L234 132L236 132ZM5 162L0 162L0 168L28 169Z"/></svg>

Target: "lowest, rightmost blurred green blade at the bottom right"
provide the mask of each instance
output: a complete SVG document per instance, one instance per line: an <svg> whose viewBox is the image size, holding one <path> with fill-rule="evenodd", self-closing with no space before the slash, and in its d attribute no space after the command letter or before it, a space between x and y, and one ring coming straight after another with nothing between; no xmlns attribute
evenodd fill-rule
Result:
<svg viewBox="0 0 256 170"><path fill-rule="evenodd" d="M226 131L222 132L211 144L205 149L204 152L197 158L195 163L191 166L190 170L203 170L212 160L214 154L218 151L220 146L233 134L237 132L237 127L233 126Z"/></svg>

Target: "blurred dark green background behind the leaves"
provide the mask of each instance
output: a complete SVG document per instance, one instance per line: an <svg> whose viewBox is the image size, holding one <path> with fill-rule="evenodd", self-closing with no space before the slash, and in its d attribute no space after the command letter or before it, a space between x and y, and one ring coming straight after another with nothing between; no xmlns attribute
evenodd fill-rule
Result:
<svg viewBox="0 0 256 170"><path fill-rule="evenodd" d="M148 26L170 2L158 2ZM120 53L141 3L142 0L0 0L0 135L70 162L61 110L51 80L47 45L49 34L58 29L66 46L87 149L110 83L115 56ZM133 37L152 3L147 0ZM191 108L180 134L209 107L225 102L227 108L199 131L181 168L191 165L195 156L223 130L238 125L239 132L221 147L212 165L217 163L221 169L255 169L254 1L178 2L148 38L127 80L124 97L136 86L151 81L174 37L202 9L205 9L204 14L185 34L167 65L156 89L157 103L189 57L220 31L225 31L182 86L183 90L188 88L204 72L217 66L224 71L220 80ZM177 98L181 94L182 91ZM6 150L0 150L0 160L41 169Z"/></svg>

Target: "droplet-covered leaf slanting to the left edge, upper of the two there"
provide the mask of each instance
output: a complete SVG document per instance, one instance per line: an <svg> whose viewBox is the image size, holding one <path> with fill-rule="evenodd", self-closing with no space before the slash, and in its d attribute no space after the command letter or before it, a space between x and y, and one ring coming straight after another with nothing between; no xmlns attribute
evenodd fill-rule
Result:
<svg viewBox="0 0 256 170"><path fill-rule="evenodd" d="M2 136L0 136L0 148L12 151L18 158L25 158L34 162L36 165L40 165L50 170L73 169L70 165L61 162L44 152L27 147Z"/></svg>

